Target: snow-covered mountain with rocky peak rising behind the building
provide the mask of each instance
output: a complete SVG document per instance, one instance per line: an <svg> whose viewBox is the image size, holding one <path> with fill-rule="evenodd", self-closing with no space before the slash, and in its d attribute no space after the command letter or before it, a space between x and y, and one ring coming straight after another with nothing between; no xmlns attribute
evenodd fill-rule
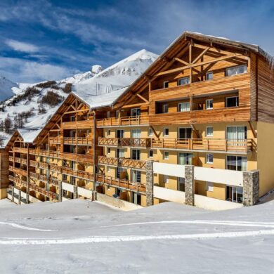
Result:
<svg viewBox="0 0 274 274"><path fill-rule="evenodd" d="M56 112L70 90L83 100L96 97L96 102L100 102L100 95L112 93L113 91L121 93L157 57L156 54L143 49L107 67L105 70L100 65L93 65L89 72L75 74L60 81L44 81L37 84L13 83L11 84L13 91L10 91L11 88L6 89L7 84L5 86L0 84L0 90L3 87L4 90L11 92L9 93L10 96L13 95L0 104L0 122L9 116L13 121L13 126L17 122L20 125L19 127L38 132ZM5 83L8 82L8 80L5 81ZM67 84L72 84L70 89L67 89ZM43 103L48 91L55 93L56 105ZM102 104L104 103L103 100L105 99L102 97ZM20 117L23 118L20 119ZM18 122L18 119L20 119L20 122ZM2 145L6 145L11 133L0 131L0 135L4 138Z"/></svg>

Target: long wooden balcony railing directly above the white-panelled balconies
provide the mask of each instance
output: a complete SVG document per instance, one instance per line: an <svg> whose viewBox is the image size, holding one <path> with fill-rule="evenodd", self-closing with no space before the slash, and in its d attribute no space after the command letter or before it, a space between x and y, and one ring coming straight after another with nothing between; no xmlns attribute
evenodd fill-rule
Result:
<svg viewBox="0 0 274 274"><path fill-rule="evenodd" d="M151 148L249 152L252 140L152 138Z"/></svg>

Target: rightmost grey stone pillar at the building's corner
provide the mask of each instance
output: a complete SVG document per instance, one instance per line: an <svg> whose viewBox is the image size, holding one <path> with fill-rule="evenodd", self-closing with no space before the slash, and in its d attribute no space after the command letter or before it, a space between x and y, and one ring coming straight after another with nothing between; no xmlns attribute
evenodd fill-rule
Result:
<svg viewBox="0 0 274 274"><path fill-rule="evenodd" d="M242 203L245 207L249 207L259 202L259 171L244 171L243 177Z"/></svg>

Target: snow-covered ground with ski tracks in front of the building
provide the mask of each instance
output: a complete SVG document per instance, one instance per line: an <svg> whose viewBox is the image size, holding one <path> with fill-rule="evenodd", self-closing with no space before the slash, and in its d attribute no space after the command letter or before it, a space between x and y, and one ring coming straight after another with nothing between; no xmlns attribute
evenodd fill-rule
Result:
<svg viewBox="0 0 274 274"><path fill-rule="evenodd" d="M0 273L273 273L273 209L2 200Z"/></svg>

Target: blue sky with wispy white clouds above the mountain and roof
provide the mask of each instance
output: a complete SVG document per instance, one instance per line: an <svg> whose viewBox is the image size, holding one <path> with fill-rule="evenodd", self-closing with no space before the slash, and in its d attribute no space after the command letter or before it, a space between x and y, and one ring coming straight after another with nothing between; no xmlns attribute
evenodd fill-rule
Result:
<svg viewBox="0 0 274 274"><path fill-rule="evenodd" d="M143 48L161 53L184 30L259 44L274 55L274 1L0 1L0 75L62 79Z"/></svg>

